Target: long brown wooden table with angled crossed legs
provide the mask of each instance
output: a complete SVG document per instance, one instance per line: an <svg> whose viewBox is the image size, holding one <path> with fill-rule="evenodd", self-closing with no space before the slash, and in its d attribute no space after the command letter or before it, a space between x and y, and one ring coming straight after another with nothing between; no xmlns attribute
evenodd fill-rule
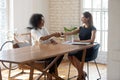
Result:
<svg viewBox="0 0 120 80"><path fill-rule="evenodd" d="M57 59L61 55L67 54L71 51L84 50L83 51L84 55L83 55L82 63L81 63L81 73L82 73L85 55L86 55L86 49L92 46L93 44L90 44L90 45L39 44L35 46L0 51L0 61L9 62L9 63L17 63L17 64L19 63L27 64L31 66L31 70L33 70L34 68L38 69L36 66L33 65L34 61L57 56L51 62L51 64L48 65L46 69L44 70L38 69L42 71L43 73L51 75L50 73L47 73L46 71L57 61ZM29 80L33 79L32 75L33 73L30 73ZM58 76L54 76L54 77L57 78L57 80L63 80L62 78Z"/></svg>

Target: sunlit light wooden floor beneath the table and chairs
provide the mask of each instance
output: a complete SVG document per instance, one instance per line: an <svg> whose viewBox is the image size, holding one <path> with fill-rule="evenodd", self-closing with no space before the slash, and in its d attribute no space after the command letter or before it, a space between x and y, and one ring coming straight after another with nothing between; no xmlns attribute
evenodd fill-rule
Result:
<svg viewBox="0 0 120 80"><path fill-rule="evenodd" d="M69 65L68 61L63 61L62 64L60 64L60 66L58 68L59 75L62 78L64 78L65 80L68 79L68 65ZM106 71L107 71L106 65L98 64L98 67L99 67L101 77L102 77L101 80L107 80L107 77L106 77L106 75L107 75L106 74ZM19 70L19 69L13 70L12 75L14 75L14 74L16 74L16 73L18 73L20 71L21 70ZM86 64L85 64L85 67L84 67L84 71L86 71ZM26 70L26 72L29 73L29 70ZM35 70L35 73L40 73L40 72ZM71 66L70 77L73 77L75 75L77 75L77 71L73 66ZM8 76L8 70L2 70L2 79L3 80L8 80L7 76ZM29 77L28 74L24 74L24 75L20 75L20 76L16 77L14 80L28 80L28 77ZM34 80L36 79L36 77L37 77L37 75L34 75ZM90 79L89 80L97 80L97 78L99 78L99 76L97 74L96 67L95 67L95 65L93 63L90 63ZM43 79L40 79L40 80L43 80ZM76 78L72 78L70 80L76 80Z"/></svg>

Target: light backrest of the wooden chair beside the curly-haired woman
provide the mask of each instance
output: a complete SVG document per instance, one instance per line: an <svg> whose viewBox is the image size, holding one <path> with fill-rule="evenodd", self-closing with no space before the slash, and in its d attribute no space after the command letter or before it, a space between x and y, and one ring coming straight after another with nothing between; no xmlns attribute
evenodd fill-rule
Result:
<svg viewBox="0 0 120 80"><path fill-rule="evenodd" d="M20 48L31 45L31 33L14 34L14 48Z"/></svg>

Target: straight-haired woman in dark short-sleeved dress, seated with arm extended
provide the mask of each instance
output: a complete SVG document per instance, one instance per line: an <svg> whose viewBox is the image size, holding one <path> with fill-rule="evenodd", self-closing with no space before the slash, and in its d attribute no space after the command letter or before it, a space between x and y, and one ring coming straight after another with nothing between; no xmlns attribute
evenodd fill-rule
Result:
<svg viewBox="0 0 120 80"><path fill-rule="evenodd" d="M96 28L93 26L93 19L92 15L89 12L84 12L82 19L81 19L83 25L80 26L78 29L72 31L72 32L66 32L61 33L63 35L73 35L79 33L79 40L74 40L75 42L90 42L93 43L95 40L95 34L96 34ZM89 57L91 52L93 50L92 48L87 49L86 57ZM78 78L77 80L85 80L85 77L82 77L81 79L81 69L80 69L80 62L82 59L82 52L83 50L71 52L68 55L69 60L74 65L74 67L78 71ZM86 76L86 73L84 72L84 76Z"/></svg>

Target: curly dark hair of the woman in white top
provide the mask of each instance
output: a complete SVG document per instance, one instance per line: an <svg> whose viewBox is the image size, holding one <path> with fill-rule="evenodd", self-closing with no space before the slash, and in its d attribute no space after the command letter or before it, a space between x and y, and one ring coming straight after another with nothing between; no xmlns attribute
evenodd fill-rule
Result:
<svg viewBox="0 0 120 80"><path fill-rule="evenodd" d="M38 14L38 13L33 14L30 18L30 21L29 21L29 23L32 27L27 27L27 28L37 30L37 28L39 27L39 23L43 20L42 19L43 17L44 16L42 14Z"/></svg>

